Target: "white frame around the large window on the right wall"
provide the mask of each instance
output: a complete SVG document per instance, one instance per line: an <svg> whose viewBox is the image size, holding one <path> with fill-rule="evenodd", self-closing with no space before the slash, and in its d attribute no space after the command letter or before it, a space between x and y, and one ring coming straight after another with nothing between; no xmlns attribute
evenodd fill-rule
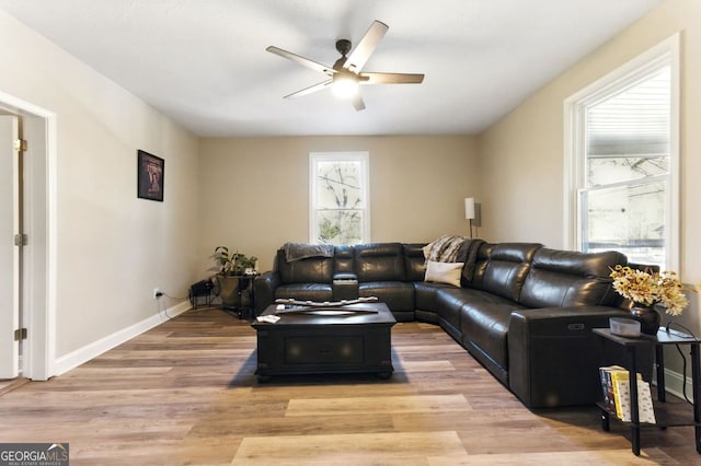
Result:
<svg viewBox="0 0 701 466"><path fill-rule="evenodd" d="M665 39L606 77L567 97L564 101L564 193L563 234L564 245L577 249L582 241L578 191L585 187L585 107L623 90L664 66L670 68L670 121L669 121L669 184L666 196L665 268L679 270L679 34Z"/></svg>

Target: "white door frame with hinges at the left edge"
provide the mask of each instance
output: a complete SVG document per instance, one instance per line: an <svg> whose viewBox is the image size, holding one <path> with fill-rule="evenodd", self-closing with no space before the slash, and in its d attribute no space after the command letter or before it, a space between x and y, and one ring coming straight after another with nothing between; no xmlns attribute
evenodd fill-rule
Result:
<svg viewBox="0 0 701 466"><path fill-rule="evenodd" d="M0 92L0 107L22 118L24 159L22 375L45 381L55 374L57 298L56 114Z"/></svg>

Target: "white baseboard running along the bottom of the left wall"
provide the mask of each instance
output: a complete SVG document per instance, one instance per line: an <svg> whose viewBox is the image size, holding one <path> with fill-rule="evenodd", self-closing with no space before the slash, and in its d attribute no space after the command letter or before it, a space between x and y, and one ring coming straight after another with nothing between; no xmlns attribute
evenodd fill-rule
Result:
<svg viewBox="0 0 701 466"><path fill-rule="evenodd" d="M189 301L183 301L182 303L169 307L165 311L161 311L160 313L152 315L145 321L141 321L122 330L115 331L114 334L101 338L97 341L93 341L90 345L71 351L70 353L60 358L57 358L54 363L54 369L56 372L54 375L61 375L70 371L71 369L78 368L80 364L83 364L91 359L99 357L105 351L118 347L125 341L128 341L131 338L139 336L142 333L181 315L185 311L189 311L191 308L192 305L189 304Z"/></svg>

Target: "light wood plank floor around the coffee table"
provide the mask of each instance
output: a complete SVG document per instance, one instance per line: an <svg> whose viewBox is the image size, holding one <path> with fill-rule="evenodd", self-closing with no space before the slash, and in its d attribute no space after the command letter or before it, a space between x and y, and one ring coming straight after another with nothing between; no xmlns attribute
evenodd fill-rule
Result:
<svg viewBox="0 0 701 466"><path fill-rule="evenodd" d="M0 442L69 442L71 465L701 464L691 428L601 432L596 409L531 412L440 328L398 324L394 375L256 382L255 334L191 311L0 396Z"/></svg>

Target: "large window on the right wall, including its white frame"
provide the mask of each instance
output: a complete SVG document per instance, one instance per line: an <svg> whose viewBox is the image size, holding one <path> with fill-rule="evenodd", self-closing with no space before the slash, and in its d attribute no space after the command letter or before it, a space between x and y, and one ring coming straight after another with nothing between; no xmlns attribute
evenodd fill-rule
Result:
<svg viewBox="0 0 701 466"><path fill-rule="evenodd" d="M567 243L678 266L678 38L565 102Z"/></svg>

